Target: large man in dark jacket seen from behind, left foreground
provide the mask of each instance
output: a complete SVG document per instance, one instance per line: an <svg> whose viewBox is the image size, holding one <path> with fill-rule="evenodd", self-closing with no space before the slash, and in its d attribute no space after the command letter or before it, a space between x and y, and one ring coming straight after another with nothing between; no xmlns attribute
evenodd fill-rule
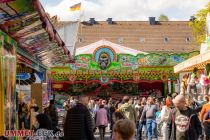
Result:
<svg viewBox="0 0 210 140"><path fill-rule="evenodd" d="M94 122L87 108L88 97L81 96L67 112L64 123L65 140L94 140Z"/></svg>

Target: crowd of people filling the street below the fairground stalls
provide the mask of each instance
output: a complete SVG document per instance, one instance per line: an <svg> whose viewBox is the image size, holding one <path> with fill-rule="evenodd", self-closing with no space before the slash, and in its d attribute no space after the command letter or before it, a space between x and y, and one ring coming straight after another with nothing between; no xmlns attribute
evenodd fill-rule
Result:
<svg viewBox="0 0 210 140"><path fill-rule="evenodd" d="M55 101L40 114L35 102L19 99L19 128L58 131ZM77 96L65 101L64 107L65 140L94 140L96 133L104 140L107 132L111 140L210 140L208 95L174 93L162 99L124 96L119 100Z"/></svg>

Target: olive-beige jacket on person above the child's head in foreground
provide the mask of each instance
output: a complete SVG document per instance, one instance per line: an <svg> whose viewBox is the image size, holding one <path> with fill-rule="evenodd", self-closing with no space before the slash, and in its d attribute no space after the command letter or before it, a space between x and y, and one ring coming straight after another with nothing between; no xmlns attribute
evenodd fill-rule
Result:
<svg viewBox="0 0 210 140"><path fill-rule="evenodd" d="M134 122L136 122L136 112L135 109L132 105L130 105L129 103L124 103L121 107L120 107L120 112L122 112L122 114L129 120L132 120Z"/></svg>

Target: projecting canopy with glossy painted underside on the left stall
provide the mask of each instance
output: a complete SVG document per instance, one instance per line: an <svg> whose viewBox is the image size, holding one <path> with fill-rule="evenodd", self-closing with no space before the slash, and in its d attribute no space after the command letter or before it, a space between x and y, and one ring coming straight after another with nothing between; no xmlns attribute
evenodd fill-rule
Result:
<svg viewBox="0 0 210 140"><path fill-rule="evenodd" d="M0 28L21 49L46 66L71 62L65 47L39 0L0 0Z"/></svg>

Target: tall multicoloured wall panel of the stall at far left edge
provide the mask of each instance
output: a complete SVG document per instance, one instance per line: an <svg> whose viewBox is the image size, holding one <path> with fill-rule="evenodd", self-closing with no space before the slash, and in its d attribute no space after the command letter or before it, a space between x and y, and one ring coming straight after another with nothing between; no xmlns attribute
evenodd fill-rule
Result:
<svg viewBox="0 0 210 140"><path fill-rule="evenodd" d="M0 30L0 135L16 126L16 48L17 43Z"/></svg>

